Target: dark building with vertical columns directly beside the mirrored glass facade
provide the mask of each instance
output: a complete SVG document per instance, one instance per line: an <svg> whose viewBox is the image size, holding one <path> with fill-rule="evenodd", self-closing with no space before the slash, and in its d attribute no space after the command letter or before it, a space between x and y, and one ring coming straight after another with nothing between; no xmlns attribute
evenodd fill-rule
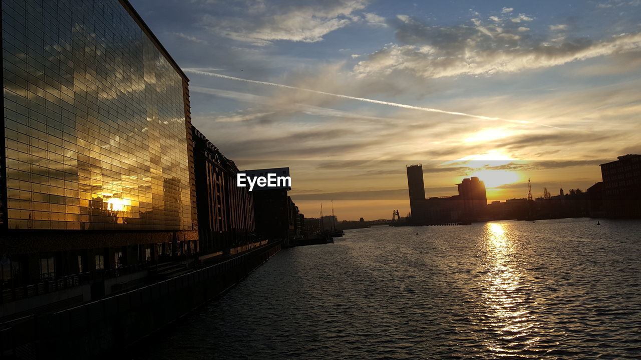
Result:
<svg viewBox="0 0 641 360"><path fill-rule="evenodd" d="M222 254L252 241L253 196L237 186L236 164L196 127L192 131L201 257Z"/></svg>

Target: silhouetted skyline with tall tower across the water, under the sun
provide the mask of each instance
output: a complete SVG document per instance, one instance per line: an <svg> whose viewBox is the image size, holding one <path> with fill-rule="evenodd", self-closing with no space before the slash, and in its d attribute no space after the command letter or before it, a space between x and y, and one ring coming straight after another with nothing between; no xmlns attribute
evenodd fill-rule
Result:
<svg viewBox="0 0 641 360"><path fill-rule="evenodd" d="M641 155L619 156L601 164L603 181L587 192L571 189L558 195L508 199L487 204L485 185L476 177L458 184L458 195L425 197L421 165L407 167L413 225L447 224L482 220L538 220L565 217L641 218ZM547 190L547 189L546 189Z"/></svg>

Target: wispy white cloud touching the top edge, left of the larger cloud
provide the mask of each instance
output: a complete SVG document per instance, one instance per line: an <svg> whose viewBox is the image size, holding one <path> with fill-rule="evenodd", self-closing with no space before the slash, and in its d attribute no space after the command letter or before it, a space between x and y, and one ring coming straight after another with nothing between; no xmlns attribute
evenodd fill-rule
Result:
<svg viewBox="0 0 641 360"><path fill-rule="evenodd" d="M324 35L360 20L354 15L365 0L267 4L263 1L236 8L237 16L203 15L201 26L233 40L268 45L278 40L319 42ZM365 15L367 20L367 15ZM369 19L378 19L370 13ZM368 20L369 21L369 20Z"/></svg>

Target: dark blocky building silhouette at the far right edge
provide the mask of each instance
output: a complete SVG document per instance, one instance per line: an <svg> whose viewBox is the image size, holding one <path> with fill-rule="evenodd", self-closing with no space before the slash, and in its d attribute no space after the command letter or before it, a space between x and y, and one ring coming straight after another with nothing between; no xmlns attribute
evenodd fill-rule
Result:
<svg viewBox="0 0 641 360"><path fill-rule="evenodd" d="M601 164L603 207L608 217L641 218L641 155Z"/></svg>

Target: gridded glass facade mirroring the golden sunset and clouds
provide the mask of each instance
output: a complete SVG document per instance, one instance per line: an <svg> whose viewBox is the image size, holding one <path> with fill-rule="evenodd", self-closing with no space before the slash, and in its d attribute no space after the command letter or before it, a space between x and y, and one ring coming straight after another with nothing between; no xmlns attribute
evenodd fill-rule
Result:
<svg viewBox="0 0 641 360"><path fill-rule="evenodd" d="M2 1L4 229L193 229L187 78L131 12Z"/></svg>

